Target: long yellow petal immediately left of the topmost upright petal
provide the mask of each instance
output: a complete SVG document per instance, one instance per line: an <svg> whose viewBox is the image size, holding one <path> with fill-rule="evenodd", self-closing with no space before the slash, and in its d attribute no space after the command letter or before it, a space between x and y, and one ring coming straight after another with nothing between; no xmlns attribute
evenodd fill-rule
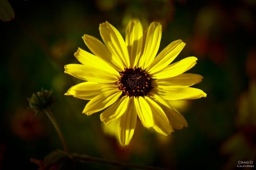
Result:
<svg viewBox="0 0 256 170"><path fill-rule="evenodd" d="M99 31L106 46L109 48L111 53L116 56L116 60L118 62L123 62L123 66L129 68L130 57L126 44L119 31L109 22L101 23Z"/></svg>

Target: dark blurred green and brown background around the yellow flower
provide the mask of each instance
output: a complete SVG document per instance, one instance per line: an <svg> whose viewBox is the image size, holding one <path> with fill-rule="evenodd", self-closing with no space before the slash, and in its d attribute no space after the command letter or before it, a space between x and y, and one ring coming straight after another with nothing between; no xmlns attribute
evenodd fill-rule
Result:
<svg viewBox="0 0 256 170"><path fill-rule="evenodd" d="M72 152L170 169L236 169L239 160L256 166L256 1L9 3L15 18L0 21L0 169L38 169L30 158L43 160L62 149L48 117L28 109L27 98L41 87L53 90L51 109ZM113 133L105 133L99 114L82 114L86 101L63 95L80 82L64 74L63 66L78 63L77 47L88 50L83 34L100 38L99 23L107 20L124 35L133 17L144 29L161 22L160 50L177 39L186 43L176 61L198 57L189 72L204 77L195 87L207 98L174 103L188 128L165 137L139 123L131 144L123 148ZM120 168L77 163L75 169Z"/></svg>

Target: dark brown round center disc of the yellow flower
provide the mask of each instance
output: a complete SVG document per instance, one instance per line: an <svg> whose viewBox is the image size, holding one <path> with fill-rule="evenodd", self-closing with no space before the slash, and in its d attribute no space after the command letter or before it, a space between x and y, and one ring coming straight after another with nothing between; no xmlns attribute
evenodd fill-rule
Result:
<svg viewBox="0 0 256 170"><path fill-rule="evenodd" d="M153 87L152 78L141 68L125 68L119 72L120 77L117 81L118 89L122 90L122 95L144 96Z"/></svg>

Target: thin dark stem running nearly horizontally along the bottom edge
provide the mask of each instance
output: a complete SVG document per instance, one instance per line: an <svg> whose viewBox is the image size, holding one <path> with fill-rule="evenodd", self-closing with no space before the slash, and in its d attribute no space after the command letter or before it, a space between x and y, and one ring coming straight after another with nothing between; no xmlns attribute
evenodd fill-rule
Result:
<svg viewBox="0 0 256 170"><path fill-rule="evenodd" d="M133 163L124 163L124 162L116 162L106 159L100 159L100 158L94 158L87 155L80 155L77 153L73 153L70 155L72 159L84 161L84 162L95 162L95 163L104 163L109 164L113 166L119 166L119 167L130 167L130 168L138 168L138 169L148 169L148 170L167 170L166 168L161 167L154 167L154 166L146 166L146 165L139 165L139 164L133 164Z"/></svg>

